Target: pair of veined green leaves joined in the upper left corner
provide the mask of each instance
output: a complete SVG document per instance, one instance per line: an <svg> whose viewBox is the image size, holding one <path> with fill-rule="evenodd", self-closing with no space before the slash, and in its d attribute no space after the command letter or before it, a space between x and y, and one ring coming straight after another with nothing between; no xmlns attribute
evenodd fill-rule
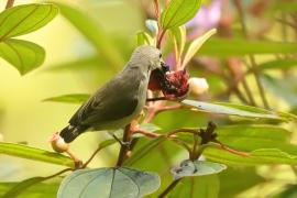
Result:
<svg viewBox="0 0 297 198"><path fill-rule="evenodd" d="M21 75L41 66L44 50L31 42L11 37L36 31L58 13L54 4L24 4L0 13L0 56L12 64Z"/></svg>

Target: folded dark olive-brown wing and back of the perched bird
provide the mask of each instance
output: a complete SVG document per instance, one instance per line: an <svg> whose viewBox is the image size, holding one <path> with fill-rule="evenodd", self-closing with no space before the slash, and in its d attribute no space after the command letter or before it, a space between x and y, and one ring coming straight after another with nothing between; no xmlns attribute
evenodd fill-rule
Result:
<svg viewBox="0 0 297 198"><path fill-rule="evenodd" d="M138 68L123 70L84 103L69 123L94 127L132 114L138 107L142 79L143 74Z"/></svg>

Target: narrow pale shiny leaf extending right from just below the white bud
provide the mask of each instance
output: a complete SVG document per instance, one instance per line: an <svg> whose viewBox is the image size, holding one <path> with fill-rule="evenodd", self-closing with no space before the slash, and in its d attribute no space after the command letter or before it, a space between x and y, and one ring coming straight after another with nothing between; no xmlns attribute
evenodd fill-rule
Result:
<svg viewBox="0 0 297 198"><path fill-rule="evenodd" d="M277 119L277 120L288 119L279 113L251 106L233 105L226 102L208 103L195 100L183 100L182 103L193 107L198 111L206 111L210 113L229 114L245 118L248 117L248 118Z"/></svg>

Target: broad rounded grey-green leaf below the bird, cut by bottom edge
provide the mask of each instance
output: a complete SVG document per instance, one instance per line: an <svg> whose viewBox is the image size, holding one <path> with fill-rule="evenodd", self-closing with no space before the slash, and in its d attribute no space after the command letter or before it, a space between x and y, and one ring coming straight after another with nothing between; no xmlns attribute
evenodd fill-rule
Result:
<svg viewBox="0 0 297 198"><path fill-rule="evenodd" d="M139 198L155 191L160 184L157 174L127 167L79 169L63 180L57 198Z"/></svg>

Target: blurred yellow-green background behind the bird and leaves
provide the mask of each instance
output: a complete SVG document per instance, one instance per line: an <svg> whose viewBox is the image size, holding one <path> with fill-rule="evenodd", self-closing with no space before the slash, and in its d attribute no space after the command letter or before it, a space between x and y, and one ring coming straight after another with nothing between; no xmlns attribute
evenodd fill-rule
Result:
<svg viewBox="0 0 297 198"><path fill-rule="evenodd" d="M31 2L30 0L15 0L15 6ZM218 36L242 36L239 16L233 1L208 0L202 9L187 28L188 40L195 37L211 28L219 30ZM260 41L292 42L295 45L297 38L296 8L277 10L277 3L294 1L268 0L242 0L246 25L252 38ZM144 21L154 16L153 4L150 0L72 0L63 1L81 10L91 18L105 32L120 55L120 62L128 61L130 53L136 46L135 33L145 30ZM3 10L6 1L0 1ZM84 29L84 28L81 28ZM20 36L40 44L46 51L44 64L20 76L18 70L9 63L0 59L0 134L8 142L23 142L29 145L51 151L48 138L67 124L70 116L79 105L43 101L46 98L67 94L91 94L100 85L110 79L123 65L112 66L94 47L89 41L63 15L58 14L52 22L41 30ZM249 42L248 42L249 43ZM237 46L241 51L241 46ZM168 48L168 47L167 47ZM223 48L223 47L222 47ZM101 48L103 51L103 48ZM252 51L252 50L251 50ZM169 62L169 52L167 61ZM261 54L256 55L257 63L265 63L275 58L296 58L296 47L289 54ZM209 91L199 97L209 101L242 102L234 92L226 94L230 80L241 76L245 70L246 56L240 56L229 63L237 53L224 56L199 55L190 63L191 76L204 77L208 80ZM273 77L264 81L266 97L274 110L293 111L296 106L296 69L290 68L267 69L265 74ZM226 72L228 70L228 72ZM228 75L222 77L221 74ZM260 94L253 76L246 78L258 106ZM239 89L243 89L242 85ZM208 120L217 123L239 122L237 119L194 113L186 110L165 112L154 119L154 123L164 131L180 127L205 127ZM283 124L290 130L292 142L295 142L296 124ZM74 143L72 150L82 161L87 160L97 148L101 140L108 138L106 133L86 133ZM90 167L111 166L117 161L118 145L106 148L90 164ZM142 169L164 172L164 183L170 180L168 167L174 166L187 154L173 146L170 143L160 148L160 152L147 156L136 167ZM153 162L153 163L152 163ZM0 182L18 182L33 176L46 176L59 170L61 166L21 160L0 155ZM296 173L289 166L257 166L257 167L230 167L219 175L219 197L273 197L282 191L287 184L296 184ZM57 179L58 180L58 179ZM211 185L211 184L210 184ZM296 190L296 189L295 189ZM51 196L50 196L51 197Z"/></svg>

